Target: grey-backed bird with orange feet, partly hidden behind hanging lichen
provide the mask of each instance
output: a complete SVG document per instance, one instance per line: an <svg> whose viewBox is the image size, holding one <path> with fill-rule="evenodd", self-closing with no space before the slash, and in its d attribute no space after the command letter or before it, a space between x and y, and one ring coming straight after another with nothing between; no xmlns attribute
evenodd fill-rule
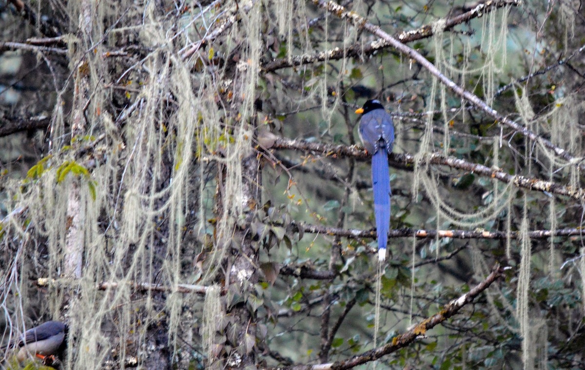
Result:
<svg viewBox="0 0 585 370"><path fill-rule="evenodd" d="M45 358L63 350L66 326L61 321L47 321L37 327L25 331L22 337L2 345L0 350L20 347L16 358L24 361L29 355Z"/></svg>

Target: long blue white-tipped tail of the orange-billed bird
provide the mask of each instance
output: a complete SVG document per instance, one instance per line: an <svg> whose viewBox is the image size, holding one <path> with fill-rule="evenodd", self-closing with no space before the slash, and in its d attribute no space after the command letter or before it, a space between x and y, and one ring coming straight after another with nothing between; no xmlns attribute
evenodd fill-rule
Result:
<svg viewBox="0 0 585 370"><path fill-rule="evenodd" d="M388 152L381 147L371 158L371 181L374 193L374 216L378 234L378 258L386 259L386 243L390 229L390 175L388 174Z"/></svg>

